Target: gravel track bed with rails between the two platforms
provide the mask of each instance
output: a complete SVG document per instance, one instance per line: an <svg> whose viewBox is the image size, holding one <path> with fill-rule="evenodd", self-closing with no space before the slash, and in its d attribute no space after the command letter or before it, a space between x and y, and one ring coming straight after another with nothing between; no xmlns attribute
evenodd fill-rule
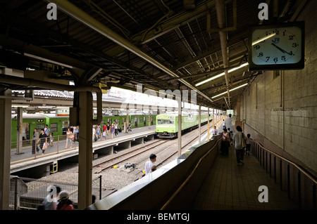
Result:
<svg viewBox="0 0 317 224"><path fill-rule="evenodd" d="M201 126L201 133L206 131L207 125ZM182 135L182 145L185 145L189 140L192 140L195 136L197 136L198 129L195 129L194 131L191 131L189 133L185 133ZM156 141L157 139L147 141L147 145L149 143L152 143ZM195 140L194 140L195 141ZM193 142L194 142L193 141ZM158 143L154 143L153 145L156 145ZM125 150L118 150L116 154L107 155L106 157L101 157L100 159L94 159L92 162L94 164L99 164L105 160L112 159L115 157L118 157L119 154L123 154L125 152L129 152L131 150L135 150L138 147L142 147L142 145L135 145L133 147L130 147L129 149ZM153 145L149 145L148 147L151 147ZM185 152L189 147L192 146L192 143L187 145L185 148L182 149L182 152ZM149 155L151 153L156 154L156 166L161 163L163 159L166 159L172 152L175 152L178 147L178 139L173 139L168 141L168 143L164 143L162 145L159 145L157 147L154 147L151 150L148 150L147 152L144 152L142 154L139 154L135 157L132 157L131 159L128 159L127 161L123 162L122 164L118 164L118 168L116 169L106 169L105 171L102 171L101 173L94 173L95 171L98 171L97 169L93 169L92 172L92 179L97 178L99 176L102 176L101 178L101 185L104 190L114 189L119 190L120 188L125 187L126 185L129 185L130 183L134 182L138 178L142 177L144 170L144 164L149 159ZM144 148L145 149L145 148ZM144 150L140 149L140 150ZM139 152L139 150L138 150ZM166 162L164 162L163 165L168 164L169 162L172 162L174 159L178 158L178 153L175 153L173 157L170 157ZM122 158L120 158L122 159ZM112 163L112 162L111 162ZM136 168L134 171L130 171L130 169L125 169L125 164L136 164ZM49 180L52 182L62 182L62 183L78 183L78 166L77 164L70 164L69 167L63 166L64 171L58 171L57 173L51 174L49 176L45 176L43 178L40 178L40 180ZM92 187L99 187L99 180L93 181Z"/></svg>

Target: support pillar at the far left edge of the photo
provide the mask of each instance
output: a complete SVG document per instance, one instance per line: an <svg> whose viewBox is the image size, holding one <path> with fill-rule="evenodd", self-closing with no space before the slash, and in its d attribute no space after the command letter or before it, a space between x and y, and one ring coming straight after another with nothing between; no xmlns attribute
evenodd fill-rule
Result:
<svg viewBox="0 0 317 224"><path fill-rule="evenodd" d="M6 95L11 95L11 91L6 91L6 93ZM0 210L9 208L11 101L11 99L0 98Z"/></svg>

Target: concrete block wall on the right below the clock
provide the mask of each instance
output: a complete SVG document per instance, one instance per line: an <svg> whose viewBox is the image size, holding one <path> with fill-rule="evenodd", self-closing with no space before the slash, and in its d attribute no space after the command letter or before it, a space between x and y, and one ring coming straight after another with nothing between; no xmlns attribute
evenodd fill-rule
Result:
<svg viewBox="0 0 317 224"><path fill-rule="evenodd" d="M295 162L317 173L317 1L309 1L297 20L305 21L303 70L265 71L241 98L241 119L280 147Z"/></svg>

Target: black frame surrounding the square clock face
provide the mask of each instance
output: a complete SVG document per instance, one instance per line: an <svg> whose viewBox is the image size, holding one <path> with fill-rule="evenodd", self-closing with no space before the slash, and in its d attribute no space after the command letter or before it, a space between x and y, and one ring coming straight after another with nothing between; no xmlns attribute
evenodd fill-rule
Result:
<svg viewBox="0 0 317 224"><path fill-rule="evenodd" d="M252 32L255 29L275 29L282 27L299 27L302 30L302 57L297 63L285 63L285 64L268 64L268 65L256 65L252 62ZM305 53L305 22L285 22L274 25L260 25L250 27L249 29L249 70L302 70L304 68L304 53Z"/></svg>

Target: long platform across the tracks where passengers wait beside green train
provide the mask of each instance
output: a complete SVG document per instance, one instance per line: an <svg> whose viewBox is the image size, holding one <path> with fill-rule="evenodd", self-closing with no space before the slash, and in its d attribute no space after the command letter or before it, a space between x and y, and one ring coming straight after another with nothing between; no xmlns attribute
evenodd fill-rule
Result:
<svg viewBox="0 0 317 224"><path fill-rule="evenodd" d="M155 130L156 126L152 125L132 129L130 133L121 132L118 133L117 136L113 133L113 139L111 139L110 136L106 138L106 140L102 140L101 138L101 140L94 141L92 143L92 150L95 152L96 150L102 150L106 147L112 147L113 150L113 147L119 144L154 135ZM48 146L44 154L42 154L42 150L32 154L32 146L23 147L23 153L21 154L16 154L16 150L11 149L11 173L54 162L59 159L73 157L78 154L79 143L77 141L73 142L72 147L70 147L70 143L68 143L68 148L65 146L66 140L60 140L59 144L57 141L54 141L54 146Z"/></svg>

